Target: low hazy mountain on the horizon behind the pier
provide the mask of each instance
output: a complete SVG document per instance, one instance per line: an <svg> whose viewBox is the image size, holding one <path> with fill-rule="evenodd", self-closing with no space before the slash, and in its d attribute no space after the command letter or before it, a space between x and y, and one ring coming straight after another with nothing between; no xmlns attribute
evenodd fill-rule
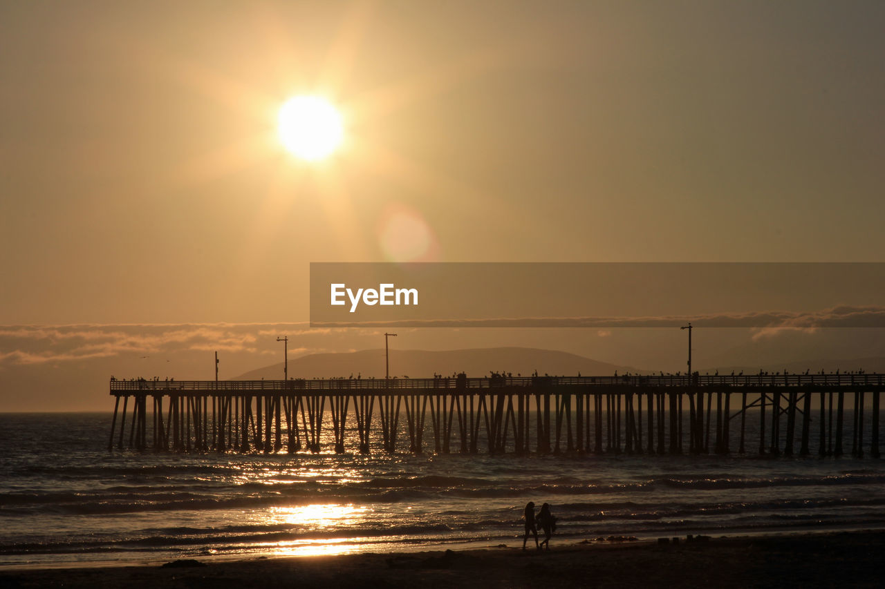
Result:
<svg viewBox="0 0 885 589"><path fill-rule="evenodd" d="M390 350L390 376L413 379L432 377L434 373L449 376L466 372L468 377L488 376L490 371L511 372L514 376L539 374L584 375L640 373L630 366L597 362L584 356L536 348L475 348L452 350ZM238 380L282 379L283 364L249 371ZM289 377L298 379L356 377L384 378L384 350L366 349L358 352L310 354L289 361Z"/></svg>

